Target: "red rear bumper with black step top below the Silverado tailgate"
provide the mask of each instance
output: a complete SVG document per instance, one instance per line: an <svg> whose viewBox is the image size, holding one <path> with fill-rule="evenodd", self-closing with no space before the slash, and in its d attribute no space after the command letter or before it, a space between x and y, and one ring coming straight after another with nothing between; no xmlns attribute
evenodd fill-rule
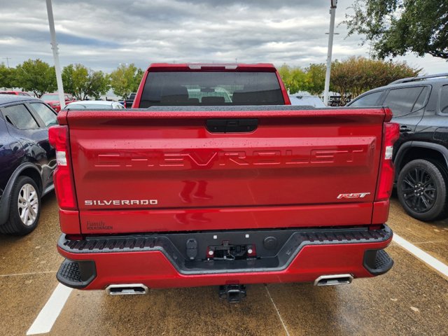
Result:
<svg viewBox="0 0 448 336"><path fill-rule="evenodd" d="M57 279L80 289L143 283L149 288L214 286L235 283L313 282L319 276L384 274L393 261L382 251L392 240L386 225L366 228L188 232L69 240L57 248L66 260ZM276 238L276 246L265 244ZM194 239L195 251L186 241ZM211 241L253 244L258 258L207 260ZM185 248L183 248L185 246ZM204 258L202 258L204 257Z"/></svg>

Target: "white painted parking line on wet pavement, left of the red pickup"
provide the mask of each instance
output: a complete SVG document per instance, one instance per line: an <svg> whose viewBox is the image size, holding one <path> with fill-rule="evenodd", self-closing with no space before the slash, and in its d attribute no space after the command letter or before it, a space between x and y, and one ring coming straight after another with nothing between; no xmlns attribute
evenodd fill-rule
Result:
<svg viewBox="0 0 448 336"><path fill-rule="evenodd" d="M38 314L31 327L29 327L27 335L50 332L52 326L56 322L57 316L59 316L62 308L64 308L64 304L69 298L71 290L71 288L62 285L62 283L57 285L50 296L50 299L48 299L47 303L45 303L45 306L43 306L41 312Z"/></svg>

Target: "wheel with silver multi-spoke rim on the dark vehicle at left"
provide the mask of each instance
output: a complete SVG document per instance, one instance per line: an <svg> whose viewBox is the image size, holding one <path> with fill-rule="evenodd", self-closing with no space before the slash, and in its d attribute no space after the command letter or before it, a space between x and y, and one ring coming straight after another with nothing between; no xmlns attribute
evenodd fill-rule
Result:
<svg viewBox="0 0 448 336"><path fill-rule="evenodd" d="M20 176L11 191L8 221L0 225L0 233L28 235L36 228L39 216L41 192L33 179Z"/></svg>

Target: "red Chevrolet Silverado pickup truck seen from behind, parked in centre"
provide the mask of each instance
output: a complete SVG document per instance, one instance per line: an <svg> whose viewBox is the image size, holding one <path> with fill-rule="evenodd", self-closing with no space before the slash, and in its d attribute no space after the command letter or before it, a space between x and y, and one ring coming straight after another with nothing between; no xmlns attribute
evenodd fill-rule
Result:
<svg viewBox="0 0 448 336"><path fill-rule="evenodd" d="M80 289L351 283L384 274L398 126L297 109L270 64L152 64L134 108L50 128L64 262Z"/></svg>

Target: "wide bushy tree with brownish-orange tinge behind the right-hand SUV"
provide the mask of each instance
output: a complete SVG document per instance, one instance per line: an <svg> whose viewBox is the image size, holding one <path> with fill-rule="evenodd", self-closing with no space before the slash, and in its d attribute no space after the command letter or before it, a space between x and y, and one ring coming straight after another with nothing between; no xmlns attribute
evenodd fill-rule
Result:
<svg viewBox="0 0 448 336"><path fill-rule="evenodd" d="M419 74L421 69L414 69L406 62L384 62L365 57L349 57L342 62L332 62L330 90L341 94L341 105L349 95L353 98L375 87L388 85L405 77Z"/></svg>

